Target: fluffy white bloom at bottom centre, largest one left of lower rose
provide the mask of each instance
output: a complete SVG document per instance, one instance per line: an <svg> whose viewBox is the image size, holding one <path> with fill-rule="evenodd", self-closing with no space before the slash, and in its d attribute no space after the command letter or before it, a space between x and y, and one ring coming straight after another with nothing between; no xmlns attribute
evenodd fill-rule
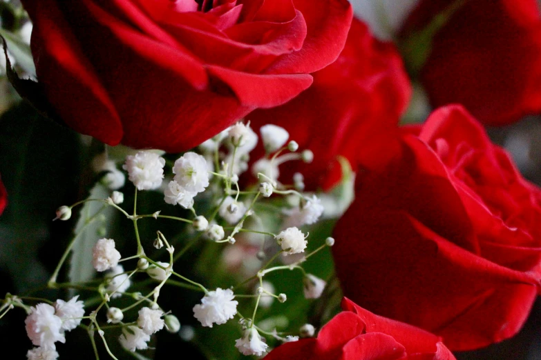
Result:
<svg viewBox="0 0 541 360"><path fill-rule="evenodd" d="M226 323L237 313L238 301L234 301L234 297L230 289L217 288L216 291L209 291L201 299L201 303L193 307L193 316L202 326L209 328L212 328L213 323L216 325Z"/></svg>

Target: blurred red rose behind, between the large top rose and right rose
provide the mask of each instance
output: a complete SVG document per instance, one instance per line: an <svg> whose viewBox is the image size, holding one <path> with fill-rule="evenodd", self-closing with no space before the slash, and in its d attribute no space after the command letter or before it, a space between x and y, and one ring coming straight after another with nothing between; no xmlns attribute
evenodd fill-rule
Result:
<svg viewBox="0 0 541 360"><path fill-rule="evenodd" d="M411 92L395 46L374 39L357 19L339 58L313 75L314 84L292 101L246 117L254 128L282 126L301 149L314 152L313 163L281 168L282 181L290 183L299 171L311 190L328 189L340 179L339 155L352 165L370 159L370 150L359 148L386 143L381 137L397 128ZM258 153L263 154L262 146ZM256 154L251 157L257 159Z"/></svg>

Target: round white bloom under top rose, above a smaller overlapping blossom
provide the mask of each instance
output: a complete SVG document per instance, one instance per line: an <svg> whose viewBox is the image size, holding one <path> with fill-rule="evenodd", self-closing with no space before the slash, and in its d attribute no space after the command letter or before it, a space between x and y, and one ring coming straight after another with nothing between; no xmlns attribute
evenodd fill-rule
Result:
<svg viewBox="0 0 541 360"><path fill-rule="evenodd" d="M189 192L203 192L209 186L207 160L195 152L187 152L175 161L175 181Z"/></svg>

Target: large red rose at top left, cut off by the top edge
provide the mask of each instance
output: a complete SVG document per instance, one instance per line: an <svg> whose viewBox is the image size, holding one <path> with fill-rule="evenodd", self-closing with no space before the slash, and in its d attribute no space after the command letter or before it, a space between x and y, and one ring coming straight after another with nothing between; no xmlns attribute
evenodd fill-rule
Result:
<svg viewBox="0 0 541 360"><path fill-rule="evenodd" d="M338 57L346 0L23 0L61 119L105 143L186 150L278 106Z"/></svg>

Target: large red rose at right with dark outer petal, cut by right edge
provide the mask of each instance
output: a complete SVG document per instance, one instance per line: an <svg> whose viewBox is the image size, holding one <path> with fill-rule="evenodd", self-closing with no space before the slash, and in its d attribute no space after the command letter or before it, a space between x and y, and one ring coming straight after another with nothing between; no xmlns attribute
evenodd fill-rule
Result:
<svg viewBox="0 0 541 360"><path fill-rule="evenodd" d="M471 350L513 336L540 290L541 191L462 106L405 128L359 176L332 248L345 296Z"/></svg>

